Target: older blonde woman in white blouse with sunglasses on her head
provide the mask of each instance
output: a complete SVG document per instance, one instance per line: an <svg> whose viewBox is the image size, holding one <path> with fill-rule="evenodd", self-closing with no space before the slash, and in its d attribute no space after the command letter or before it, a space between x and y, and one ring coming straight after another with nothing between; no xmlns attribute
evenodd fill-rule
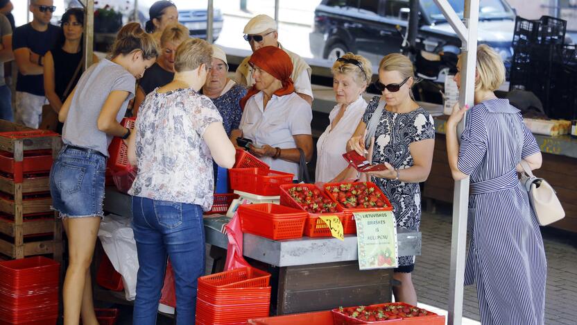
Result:
<svg viewBox="0 0 577 325"><path fill-rule="evenodd" d="M363 92L372 77L369 60L353 53L338 58L331 72L337 104L329 113L329 126L316 143L317 182L338 182L356 175L352 167L347 168L343 153L347 152L347 141L365 113L367 102Z"/></svg>

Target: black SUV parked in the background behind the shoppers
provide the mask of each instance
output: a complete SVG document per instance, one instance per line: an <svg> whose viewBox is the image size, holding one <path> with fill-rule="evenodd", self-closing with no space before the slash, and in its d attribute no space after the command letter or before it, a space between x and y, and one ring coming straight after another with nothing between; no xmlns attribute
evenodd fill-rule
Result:
<svg viewBox="0 0 577 325"><path fill-rule="evenodd" d="M463 17L463 0L449 0ZM388 53L399 52L406 34L409 0L322 0L309 35L316 58L336 60L351 51L374 65ZM481 0L480 43L496 49L506 66L513 54L515 12L504 0ZM400 31L399 31L400 29ZM460 53L460 40L433 0L420 0L417 49Z"/></svg>

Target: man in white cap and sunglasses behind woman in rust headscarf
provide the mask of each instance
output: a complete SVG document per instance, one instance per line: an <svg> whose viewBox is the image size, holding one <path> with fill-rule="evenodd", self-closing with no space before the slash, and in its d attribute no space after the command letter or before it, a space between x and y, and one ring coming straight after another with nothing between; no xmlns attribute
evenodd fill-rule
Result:
<svg viewBox="0 0 577 325"><path fill-rule="evenodd" d="M277 22L267 15L257 15L252 17L244 26L244 39L250 44L252 51L257 51L261 47L279 47L291 57L293 62L293 74L291 78L295 83L295 92L309 104L313 103L313 90L311 88L311 67L298 54L284 49L278 42ZM252 67L248 64L250 56L236 68L234 76L237 83L252 86L255 81L252 79Z"/></svg>

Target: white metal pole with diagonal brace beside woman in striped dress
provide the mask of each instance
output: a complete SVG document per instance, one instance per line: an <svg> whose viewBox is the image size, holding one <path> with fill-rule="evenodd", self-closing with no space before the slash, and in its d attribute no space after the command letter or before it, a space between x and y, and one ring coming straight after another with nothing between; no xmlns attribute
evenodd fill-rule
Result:
<svg viewBox="0 0 577 325"><path fill-rule="evenodd" d="M459 105L473 106L477 28L479 25L479 0L465 0L463 22L447 0L434 0L447 22L453 27L463 47L461 48ZM467 115L458 126L458 134L463 132ZM467 239L467 206L469 205L469 178L455 182L453 198L453 231L451 235L451 270L449 275L449 319L447 324L463 322L463 286L465 281L465 247Z"/></svg>

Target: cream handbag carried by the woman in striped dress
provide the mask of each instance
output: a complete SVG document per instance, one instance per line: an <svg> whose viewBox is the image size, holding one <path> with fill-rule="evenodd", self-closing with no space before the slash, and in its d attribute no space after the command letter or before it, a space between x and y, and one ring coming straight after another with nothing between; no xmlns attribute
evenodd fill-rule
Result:
<svg viewBox="0 0 577 325"><path fill-rule="evenodd" d="M525 160L521 160L520 164L524 171L521 174L521 183L529 194L529 201L537 222L541 226L546 226L563 219L565 210L555 190L543 178L535 177Z"/></svg>

